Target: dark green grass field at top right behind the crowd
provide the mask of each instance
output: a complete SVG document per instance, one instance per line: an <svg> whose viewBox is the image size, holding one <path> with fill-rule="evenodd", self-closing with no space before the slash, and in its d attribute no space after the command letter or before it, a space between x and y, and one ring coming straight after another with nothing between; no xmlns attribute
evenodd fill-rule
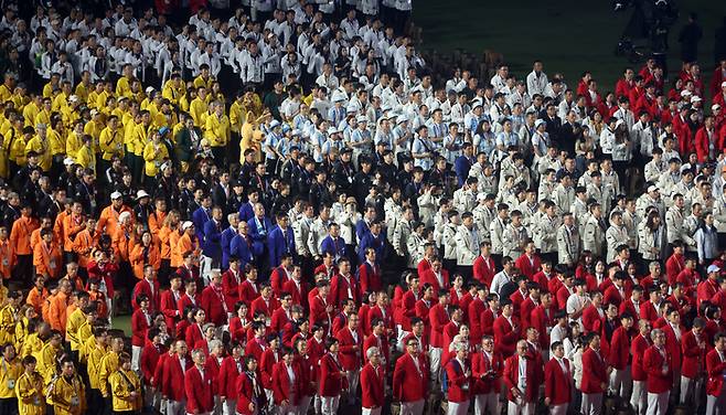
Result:
<svg viewBox="0 0 726 415"><path fill-rule="evenodd" d="M714 31L726 14L724 3L690 0L679 4L680 18L669 42L669 70L680 70L677 33L688 12L696 11L704 33L698 61L709 82ZM590 71L604 93L615 87L628 65L613 52L630 14L616 14L609 0L416 0L413 20L423 28L424 49L463 49L476 55L492 50L503 54L510 73L517 78L524 78L532 71L532 62L541 58L547 74L563 73L573 88L580 73Z"/></svg>

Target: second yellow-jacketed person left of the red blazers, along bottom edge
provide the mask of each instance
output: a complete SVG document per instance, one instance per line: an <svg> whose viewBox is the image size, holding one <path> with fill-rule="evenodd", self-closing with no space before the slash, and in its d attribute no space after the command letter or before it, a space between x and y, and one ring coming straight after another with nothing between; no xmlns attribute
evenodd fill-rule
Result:
<svg viewBox="0 0 726 415"><path fill-rule="evenodd" d="M46 387L46 398L52 402L55 415L86 413L86 387L71 358L61 361L61 375L51 380Z"/></svg>

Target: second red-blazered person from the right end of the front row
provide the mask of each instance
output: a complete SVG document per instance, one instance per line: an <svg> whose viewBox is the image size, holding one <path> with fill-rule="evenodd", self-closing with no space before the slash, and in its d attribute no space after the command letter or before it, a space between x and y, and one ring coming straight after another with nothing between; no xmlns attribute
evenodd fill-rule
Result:
<svg viewBox="0 0 726 415"><path fill-rule="evenodd" d="M694 387L698 377L705 370L706 339L704 328L706 321L696 317L693 327L681 336L681 351L683 359L681 363L681 396L679 403L695 403Z"/></svg>

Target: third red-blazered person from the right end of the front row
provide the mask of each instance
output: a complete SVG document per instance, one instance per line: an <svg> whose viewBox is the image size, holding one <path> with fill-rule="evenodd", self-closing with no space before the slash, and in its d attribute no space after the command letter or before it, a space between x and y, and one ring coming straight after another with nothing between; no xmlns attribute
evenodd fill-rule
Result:
<svg viewBox="0 0 726 415"><path fill-rule="evenodd" d="M673 387L673 362L665 347L666 337L663 330L653 329L650 336L653 345L648 348L643 355L643 369L648 374L648 411L651 414L664 415Z"/></svg>

